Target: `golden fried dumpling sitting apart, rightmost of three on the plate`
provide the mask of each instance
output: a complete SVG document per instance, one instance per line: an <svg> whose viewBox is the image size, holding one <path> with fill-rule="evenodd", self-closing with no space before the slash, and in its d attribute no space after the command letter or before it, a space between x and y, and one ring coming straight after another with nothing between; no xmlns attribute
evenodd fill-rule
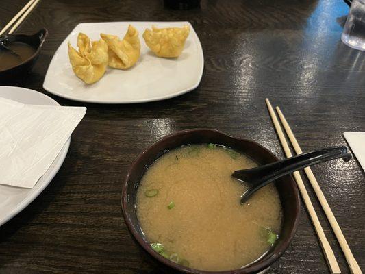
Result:
<svg viewBox="0 0 365 274"><path fill-rule="evenodd" d="M184 49L190 27L169 27L158 29L152 26L152 30L146 29L143 33L144 41L156 55L160 57L178 57Z"/></svg>

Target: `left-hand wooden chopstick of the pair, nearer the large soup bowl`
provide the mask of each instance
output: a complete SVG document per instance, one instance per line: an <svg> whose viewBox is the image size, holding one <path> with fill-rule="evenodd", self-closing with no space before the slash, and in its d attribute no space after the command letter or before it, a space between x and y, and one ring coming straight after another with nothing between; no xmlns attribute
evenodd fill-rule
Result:
<svg viewBox="0 0 365 274"><path fill-rule="evenodd" d="M286 154L286 157L287 158L292 157L292 153L289 149L288 142L286 142L286 138L284 136L283 130L281 129L281 125L279 124L279 121L277 120L277 116L273 110L273 107L271 106L271 103L267 98L265 99L265 101L266 101L266 105L268 107L268 112L270 112L271 119L273 120L273 124L276 129L277 135L279 136L279 140L280 140L281 145ZM293 176L294 176L295 181L297 182L299 191L301 192L301 197L303 198L305 207L307 208L307 210L310 214L310 219L312 219L314 229L316 230L317 236L319 238L320 246L322 247L323 252L325 253L325 258L327 260L329 270L333 274L341 273L340 266L338 266L338 262L334 256L331 246L329 245L329 242L325 236L325 232L323 232L322 225L320 225L318 216L317 216L316 212L314 211L312 201L310 201L310 197L308 195L307 190L305 189L305 186L304 186L303 180L301 179L301 175L299 174L299 171L295 171L293 173Z"/></svg>

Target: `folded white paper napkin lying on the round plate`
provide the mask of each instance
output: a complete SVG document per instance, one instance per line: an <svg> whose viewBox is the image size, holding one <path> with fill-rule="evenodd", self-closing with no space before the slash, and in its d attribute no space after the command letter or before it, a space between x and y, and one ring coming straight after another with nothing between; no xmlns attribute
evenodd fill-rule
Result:
<svg viewBox="0 0 365 274"><path fill-rule="evenodd" d="M0 184L33 188L85 113L86 108L0 97Z"/></svg>

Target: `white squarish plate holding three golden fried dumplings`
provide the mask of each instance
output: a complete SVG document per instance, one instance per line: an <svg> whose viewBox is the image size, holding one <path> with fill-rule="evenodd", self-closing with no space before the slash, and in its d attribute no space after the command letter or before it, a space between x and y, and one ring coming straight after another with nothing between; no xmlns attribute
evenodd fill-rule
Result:
<svg viewBox="0 0 365 274"><path fill-rule="evenodd" d="M100 33L123 38L131 24L138 29L141 55L138 62L126 71L108 68L95 84L84 84L71 69L67 42L77 49L79 32L91 40L99 40ZM184 51L179 58L158 58L144 43L144 29L156 27L190 26ZM43 83L45 90L75 101L90 103L144 103L182 95L197 88L203 75L203 50L197 34L189 22L107 22L81 23L73 29L53 55Z"/></svg>

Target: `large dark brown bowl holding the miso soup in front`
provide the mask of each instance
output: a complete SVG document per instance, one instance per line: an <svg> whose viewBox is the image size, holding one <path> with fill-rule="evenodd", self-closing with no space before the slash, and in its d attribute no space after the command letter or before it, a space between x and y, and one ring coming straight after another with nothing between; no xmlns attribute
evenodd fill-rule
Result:
<svg viewBox="0 0 365 274"><path fill-rule="evenodd" d="M268 164L278 160L273 153L262 147L262 145L259 145L257 142L229 136L214 129L188 129L165 136L138 155L127 173L127 177L123 184L121 206L129 232L150 256L162 263L161 266L163 267L161 270L165 269L166 271L166 269L170 268L170 271L167 273L172 272L171 268L185 273L200 274L257 273L267 269L284 253L284 251L286 251L297 230L300 210L299 192L297 184L295 184L291 175L281 177L275 182L284 216L279 240L277 240L274 247L262 256L260 260L257 260L248 266L242 267L241 269L218 272L192 269L180 264L175 264L175 262L171 262L171 260L160 256L157 252L153 251L145 238L136 214L136 194L142 175L144 175L148 167L155 162L156 159L167 151L180 147L181 145L201 143L214 143L231 147L232 149L249 156L255 160L257 164ZM237 199L239 199L239 197ZM222 260L224 260L224 252L222 253L222 256Z"/></svg>

